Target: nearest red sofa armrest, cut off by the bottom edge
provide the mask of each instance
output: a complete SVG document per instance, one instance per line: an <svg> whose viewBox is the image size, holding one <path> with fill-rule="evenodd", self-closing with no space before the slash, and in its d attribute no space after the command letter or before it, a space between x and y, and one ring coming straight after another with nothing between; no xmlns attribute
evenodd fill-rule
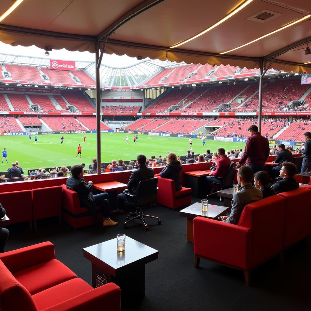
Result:
<svg viewBox="0 0 311 311"><path fill-rule="evenodd" d="M63 301L42 311L85 311L109 310L119 311L121 307L121 290L118 285L108 283Z"/></svg>

